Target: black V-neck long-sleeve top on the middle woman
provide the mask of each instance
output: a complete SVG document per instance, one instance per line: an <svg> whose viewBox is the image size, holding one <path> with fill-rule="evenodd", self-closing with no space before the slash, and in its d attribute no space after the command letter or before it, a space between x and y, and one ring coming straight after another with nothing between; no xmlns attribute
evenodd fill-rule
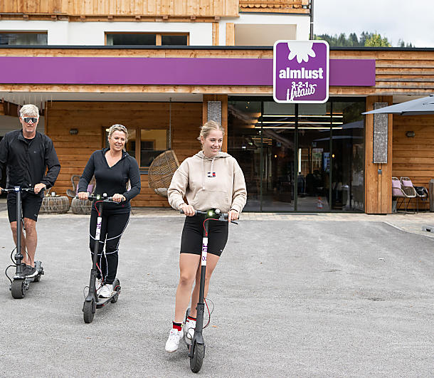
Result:
<svg viewBox="0 0 434 378"><path fill-rule="evenodd" d="M122 152L122 158L112 167L109 167L105 153L108 148L98 149L90 155L88 164L78 182L78 192L87 191L88 184L95 174L97 187L95 194L104 194L112 196L113 194L122 194L127 201L120 204L104 205L105 210L115 211L116 213L127 213L131 209L130 200L140 193L140 172L136 159L127 152ZM131 183L131 189L127 191L127 182Z"/></svg>

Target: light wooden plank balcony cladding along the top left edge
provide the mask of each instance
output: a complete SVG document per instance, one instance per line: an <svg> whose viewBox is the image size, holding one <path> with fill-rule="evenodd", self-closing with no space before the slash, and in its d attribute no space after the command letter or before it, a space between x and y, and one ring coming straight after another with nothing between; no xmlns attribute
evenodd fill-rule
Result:
<svg viewBox="0 0 434 378"><path fill-rule="evenodd" d="M238 1L236 0L8 0L0 1L0 14L3 19L14 14L25 14L31 19L34 16L54 15L66 16L70 21L96 21L95 17L107 21L140 21L143 16L149 21L149 16L170 17L211 17L238 16ZM137 16L139 18L137 18ZM122 19L124 17L124 19Z"/></svg>

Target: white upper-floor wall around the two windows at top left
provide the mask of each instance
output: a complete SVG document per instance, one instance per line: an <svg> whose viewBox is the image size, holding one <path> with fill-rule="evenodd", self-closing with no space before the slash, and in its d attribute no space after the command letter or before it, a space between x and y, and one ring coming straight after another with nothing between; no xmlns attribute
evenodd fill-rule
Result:
<svg viewBox="0 0 434 378"><path fill-rule="evenodd" d="M48 31L48 45L104 46L105 32L190 33L190 46L212 45L211 23L0 21L0 31Z"/></svg>

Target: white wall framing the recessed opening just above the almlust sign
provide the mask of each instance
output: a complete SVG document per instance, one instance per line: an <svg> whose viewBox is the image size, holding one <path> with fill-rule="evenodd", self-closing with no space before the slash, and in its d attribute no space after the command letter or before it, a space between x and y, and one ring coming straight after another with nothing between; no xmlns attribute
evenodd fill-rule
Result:
<svg viewBox="0 0 434 378"><path fill-rule="evenodd" d="M297 25L297 40L307 41L310 33L309 14L245 14L240 13L239 18L223 19L219 23L218 43L226 45L226 23L250 23L250 24L274 24L274 25Z"/></svg>

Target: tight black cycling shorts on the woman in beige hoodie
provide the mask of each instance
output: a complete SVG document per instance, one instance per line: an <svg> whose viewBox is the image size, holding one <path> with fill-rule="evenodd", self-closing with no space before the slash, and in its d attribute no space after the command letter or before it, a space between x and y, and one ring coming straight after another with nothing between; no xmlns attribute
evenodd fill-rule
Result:
<svg viewBox="0 0 434 378"><path fill-rule="evenodd" d="M186 216L181 236L181 253L201 255L204 220L205 217L202 215ZM229 224L222 221L207 222L209 223L208 253L221 256L228 241Z"/></svg>

